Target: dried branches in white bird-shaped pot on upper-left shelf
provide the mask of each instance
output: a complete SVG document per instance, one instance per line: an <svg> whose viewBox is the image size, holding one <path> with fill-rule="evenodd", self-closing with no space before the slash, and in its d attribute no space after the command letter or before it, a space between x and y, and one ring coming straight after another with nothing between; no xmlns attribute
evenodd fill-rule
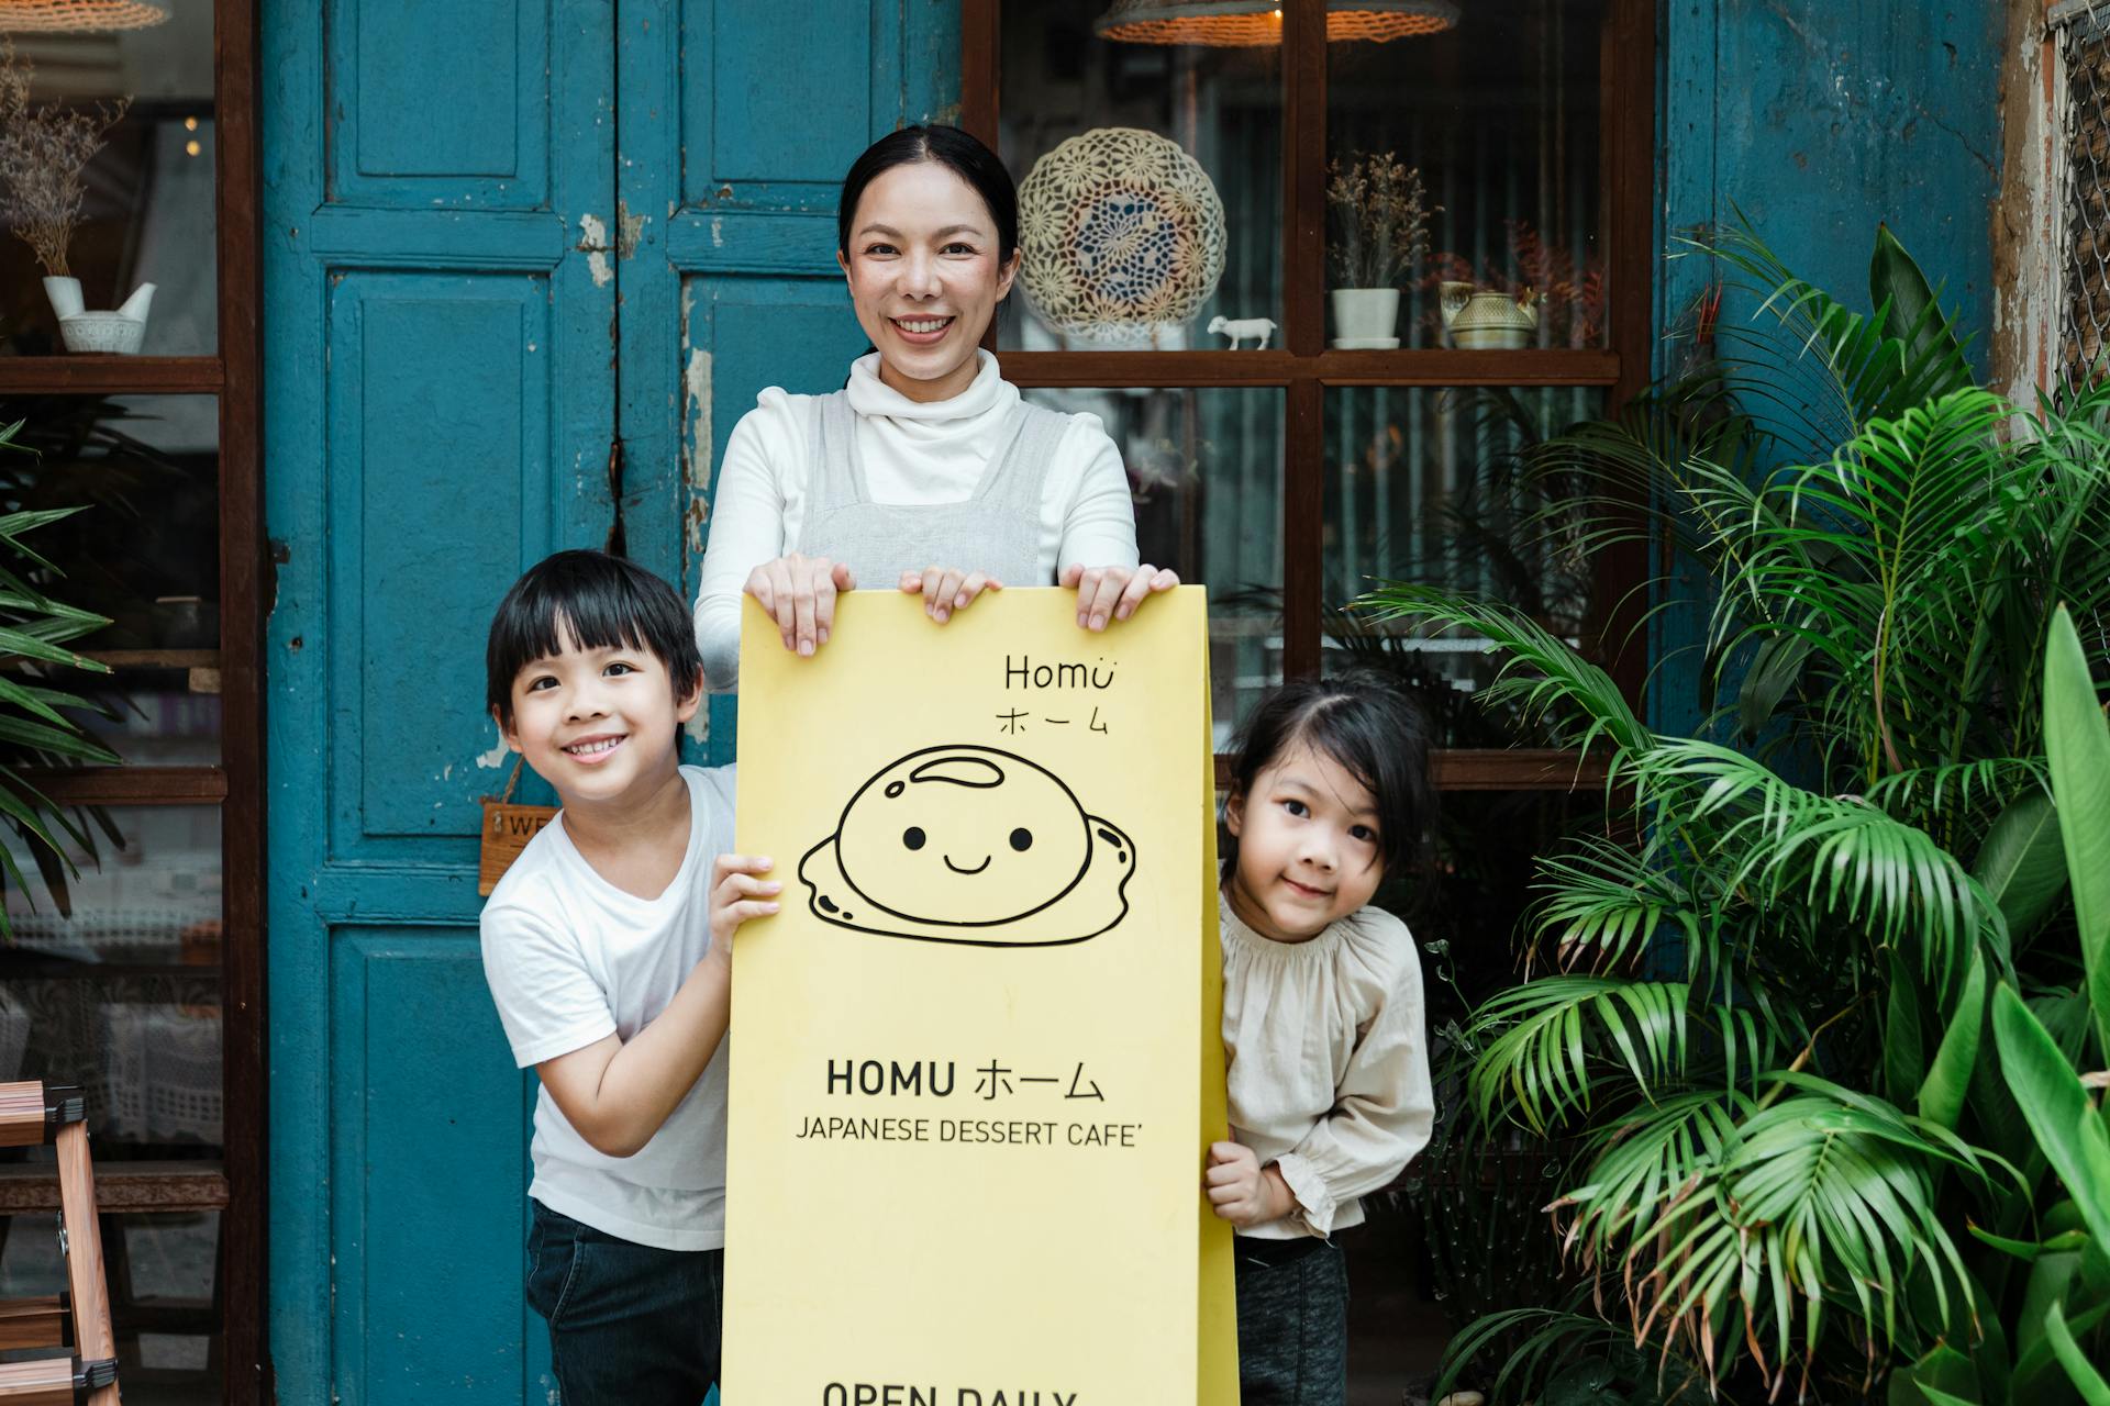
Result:
<svg viewBox="0 0 2110 1406"><path fill-rule="evenodd" d="M32 108L34 74L27 59L15 57L15 40L0 36L0 185L13 192L13 230L44 266L44 295L68 350L137 352L154 285L139 285L116 312L87 312L65 259L87 196L82 173L110 129L124 120L131 99L97 103L95 112Z"/></svg>

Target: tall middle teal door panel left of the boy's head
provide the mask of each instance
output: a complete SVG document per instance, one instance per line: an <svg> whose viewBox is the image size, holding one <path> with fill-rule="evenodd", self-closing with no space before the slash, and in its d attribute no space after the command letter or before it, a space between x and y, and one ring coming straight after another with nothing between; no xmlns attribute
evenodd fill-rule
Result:
<svg viewBox="0 0 2110 1406"><path fill-rule="evenodd" d="M490 776L447 723L483 712L462 658L494 582L551 542L549 306L538 274L331 280L335 860L475 864L473 790Z"/></svg>

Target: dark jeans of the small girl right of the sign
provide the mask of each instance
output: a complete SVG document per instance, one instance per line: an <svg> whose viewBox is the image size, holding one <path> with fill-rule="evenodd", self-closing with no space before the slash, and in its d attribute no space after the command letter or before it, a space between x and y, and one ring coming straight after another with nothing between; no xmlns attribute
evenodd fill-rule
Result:
<svg viewBox="0 0 2110 1406"><path fill-rule="evenodd" d="M1348 1261L1323 1239L1236 1242L1241 1406L1346 1406Z"/></svg>

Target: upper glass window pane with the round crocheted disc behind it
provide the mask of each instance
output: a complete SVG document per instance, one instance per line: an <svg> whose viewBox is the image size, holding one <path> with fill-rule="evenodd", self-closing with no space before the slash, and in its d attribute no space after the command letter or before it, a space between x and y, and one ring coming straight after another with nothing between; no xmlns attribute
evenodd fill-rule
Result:
<svg viewBox="0 0 2110 1406"><path fill-rule="evenodd" d="M998 148L1028 266L1000 346L1215 348L1215 316L1281 323L1281 44L1106 38L1106 11L1004 4Z"/></svg>

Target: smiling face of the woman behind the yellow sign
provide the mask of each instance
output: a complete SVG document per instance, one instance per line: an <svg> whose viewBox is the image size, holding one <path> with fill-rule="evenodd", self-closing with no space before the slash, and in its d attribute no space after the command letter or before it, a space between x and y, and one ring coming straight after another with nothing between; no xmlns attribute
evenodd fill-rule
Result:
<svg viewBox="0 0 2110 1406"><path fill-rule="evenodd" d="M950 167L916 160L865 185L850 249L836 261L880 379L909 401L950 401L975 382L975 348L1011 293L1019 255L996 257L996 219Z"/></svg>

